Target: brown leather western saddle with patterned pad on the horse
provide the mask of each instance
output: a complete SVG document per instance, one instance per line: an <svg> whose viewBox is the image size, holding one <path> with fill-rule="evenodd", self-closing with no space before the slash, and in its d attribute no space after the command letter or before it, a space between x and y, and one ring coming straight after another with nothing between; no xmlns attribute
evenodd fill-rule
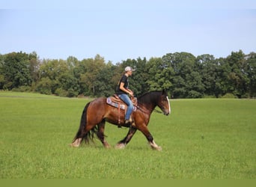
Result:
<svg viewBox="0 0 256 187"><path fill-rule="evenodd" d="M137 110L137 97L130 97L132 104L133 104L133 111ZM106 103L109 105L112 105L115 108L118 108L118 124L121 124L120 115L121 115L121 109L125 112L127 112L127 104L119 98L118 95L114 94L113 96L109 96L106 99ZM132 121L132 119L130 118ZM133 124L133 123L132 123ZM121 127L118 125L118 127Z"/></svg>

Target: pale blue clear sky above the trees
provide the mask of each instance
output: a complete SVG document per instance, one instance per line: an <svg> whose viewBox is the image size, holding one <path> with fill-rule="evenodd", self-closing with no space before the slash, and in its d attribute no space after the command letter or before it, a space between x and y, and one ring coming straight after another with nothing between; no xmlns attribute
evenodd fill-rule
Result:
<svg viewBox="0 0 256 187"><path fill-rule="evenodd" d="M0 54L40 59L256 52L255 0L8 0L0 2Z"/></svg>

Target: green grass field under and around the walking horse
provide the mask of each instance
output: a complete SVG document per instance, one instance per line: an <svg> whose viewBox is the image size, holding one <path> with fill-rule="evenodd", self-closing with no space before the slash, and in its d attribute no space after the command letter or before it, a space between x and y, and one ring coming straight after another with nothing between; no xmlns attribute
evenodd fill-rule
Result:
<svg viewBox="0 0 256 187"><path fill-rule="evenodd" d="M174 99L124 150L69 147L88 99L0 92L1 179L255 179L255 99ZM113 147L128 129L106 125Z"/></svg>

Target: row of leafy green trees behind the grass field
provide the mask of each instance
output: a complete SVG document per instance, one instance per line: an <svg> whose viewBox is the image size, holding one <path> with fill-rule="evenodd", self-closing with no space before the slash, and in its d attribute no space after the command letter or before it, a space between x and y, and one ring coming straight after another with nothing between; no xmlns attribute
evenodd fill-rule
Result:
<svg viewBox="0 0 256 187"><path fill-rule="evenodd" d="M111 96L124 68L135 68L129 87L136 96L165 89L171 98L256 96L256 53L242 50L226 58L188 52L168 53L162 58L106 62L103 57L79 61L40 59L36 52L0 54L0 90L27 91L57 96Z"/></svg>

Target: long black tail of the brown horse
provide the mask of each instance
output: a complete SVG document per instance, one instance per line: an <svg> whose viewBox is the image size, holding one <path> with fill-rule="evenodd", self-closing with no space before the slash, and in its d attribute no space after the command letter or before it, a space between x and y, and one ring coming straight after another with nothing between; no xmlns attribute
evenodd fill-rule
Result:
<svg viewBox="0 0 256 187"><path fill-rule="evenodd" d="M73 139L73 142L76 141L77 138L82 138L82 141L85 140L85 143L89 143L89 141L93 140L93 138L94 138L94 133L97 130L96 126L93 129L91 129L91 131L85 132L85 128L86 128L86 125L87 125L86 124L86 121L87 121L87 109L88 109L88 106L90 105L90 103L91 102L88 102L87 105L85 105L84 110L82 111L82 116L81 116L81 120L80 120L79 130L76 133L76 136Z"/></svg>

